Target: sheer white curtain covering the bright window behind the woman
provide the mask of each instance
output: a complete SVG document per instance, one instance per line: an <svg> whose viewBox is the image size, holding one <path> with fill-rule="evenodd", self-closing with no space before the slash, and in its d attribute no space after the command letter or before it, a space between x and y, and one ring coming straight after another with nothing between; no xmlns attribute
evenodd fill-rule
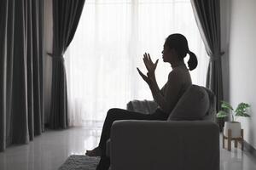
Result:
<svg viewBox="0 0 256 170"><path fill-rule="evenodd" d="M205 85L207 54L189 0L86 0L65 56L70 124L101 126L108 109L152 99L136 67L146 71L144 52L160 59L156 76L164 85L172 68L161 51L165 38L177 32L199 60L193 82Z"/></svg>

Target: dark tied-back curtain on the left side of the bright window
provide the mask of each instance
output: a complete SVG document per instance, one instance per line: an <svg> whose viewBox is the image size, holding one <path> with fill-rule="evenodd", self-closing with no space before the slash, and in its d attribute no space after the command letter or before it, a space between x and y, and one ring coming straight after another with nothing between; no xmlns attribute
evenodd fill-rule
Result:
<svg viewBox="0 0 256 170"><path fill-rule="evenodd" d="M63 54L79 24L85 0L53 0L53 58L50 127L66 128L67 80Z"/></svg>

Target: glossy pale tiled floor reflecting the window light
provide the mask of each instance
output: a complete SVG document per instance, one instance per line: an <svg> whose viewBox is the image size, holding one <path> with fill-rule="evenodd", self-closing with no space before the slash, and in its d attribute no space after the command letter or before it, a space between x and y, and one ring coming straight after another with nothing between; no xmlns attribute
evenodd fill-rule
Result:
<svg viewBox="0 0 256 170"><path fill-rule="evenodd" d="M73 127L61 131L47 131L29 144L9 147L0 152L1 170L57 170L72 154L84 154L99 141L101 129ZM220 152L221 170L256 170L256 160L247 150Z"/></svg>

